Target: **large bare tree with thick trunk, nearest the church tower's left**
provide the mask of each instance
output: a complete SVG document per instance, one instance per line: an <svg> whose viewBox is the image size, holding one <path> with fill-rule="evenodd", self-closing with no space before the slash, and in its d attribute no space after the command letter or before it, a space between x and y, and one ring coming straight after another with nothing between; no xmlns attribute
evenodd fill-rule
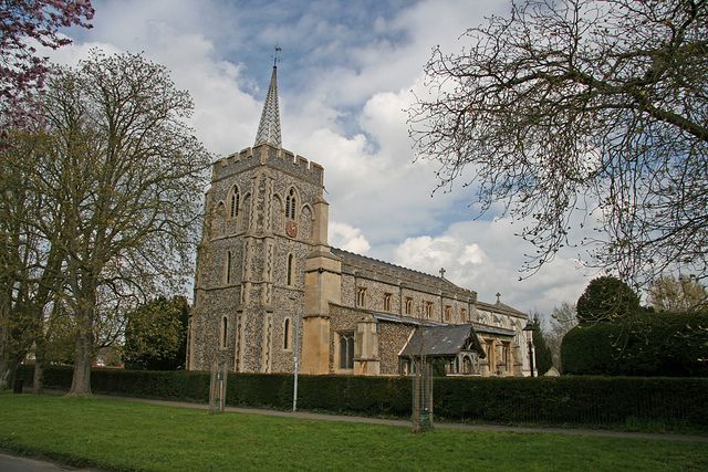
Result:
<svg viewBox="0 0 708 472"><path fill-rule="evenodd" d="M38 228L62 222L52 244L66 254L63 301L76 334L70 394L91 392L106 300L179 292L191 274L211 160L185 124L191 108L165 67L136 54L93 51L48 83L50 139L33 186L44 199Z"/></svg>

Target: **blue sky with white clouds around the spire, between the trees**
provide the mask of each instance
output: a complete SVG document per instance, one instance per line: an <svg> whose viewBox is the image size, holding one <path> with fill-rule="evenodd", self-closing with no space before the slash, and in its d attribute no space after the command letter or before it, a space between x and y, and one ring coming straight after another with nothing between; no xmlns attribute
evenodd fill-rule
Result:
<svg viewBox="0 0 708 472"><path fill-rule="evenodd" d="M407 109L425 93L431 49L459 53L468 28L508 15L508 0L94 0L93 29L51 54L75 64L91 48L144 53L194 102L191 126L217 157L252 146L273 64L282 145L325 168L330 244L438 274L527 313L575 302L594 272L579 250L528 276L533 248L502 213L476 219L473 188L437 191L416 160ZM520 280L520 277L522 280Z"/></svg>

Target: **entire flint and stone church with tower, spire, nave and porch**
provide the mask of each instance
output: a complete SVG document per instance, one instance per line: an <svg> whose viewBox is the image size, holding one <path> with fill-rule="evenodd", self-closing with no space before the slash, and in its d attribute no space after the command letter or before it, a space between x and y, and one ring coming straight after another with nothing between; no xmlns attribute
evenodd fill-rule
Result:
<svg viewBox="0 0 708 472"><path fill-rule="evenodd" d="M324 169L281 146L277 72L253 147L212 165L187 369L534 375L528 316L499 295L330 247Z"/></svg>

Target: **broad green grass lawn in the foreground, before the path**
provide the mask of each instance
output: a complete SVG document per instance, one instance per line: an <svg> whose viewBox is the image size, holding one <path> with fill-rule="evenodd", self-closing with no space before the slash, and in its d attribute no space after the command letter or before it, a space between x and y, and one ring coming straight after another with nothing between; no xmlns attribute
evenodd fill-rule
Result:
<svg viewBox="0 0 708 472"><path fill-rule="evenodd" d="M0 448L112 470L708 470L706 443L409 429L0 394Z"/></svg>

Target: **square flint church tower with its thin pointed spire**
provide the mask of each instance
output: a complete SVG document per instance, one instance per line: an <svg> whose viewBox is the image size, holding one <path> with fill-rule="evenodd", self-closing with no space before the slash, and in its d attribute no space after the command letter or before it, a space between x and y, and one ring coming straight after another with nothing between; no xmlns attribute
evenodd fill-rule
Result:
<svg viewBox="0 0 708 472"><path fill-rule="evenodd" d="M274 64L253 147L212 166L188 369L290 373L300 347L304 373L329 371L341 262L327 245L323 178L320 165L282 148Z"/></svg>

